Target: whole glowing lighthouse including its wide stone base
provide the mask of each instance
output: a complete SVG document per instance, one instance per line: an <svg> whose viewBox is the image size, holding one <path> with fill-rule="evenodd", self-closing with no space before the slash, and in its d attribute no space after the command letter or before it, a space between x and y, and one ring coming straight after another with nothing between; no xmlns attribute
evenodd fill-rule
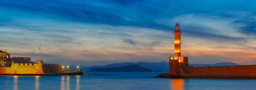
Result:
<svg viewBox="0 0 256 90"><path fill-rule="evenodd" d="M182 57L181 56L181 42L180 42L180 25L177 24L175 25L175 30L173 32L174 34L174 59L171 56L169 58L169 74L185 74L186 70L183 70L182 67L189 67L189 62L188 62L188 57Z"/></svg>

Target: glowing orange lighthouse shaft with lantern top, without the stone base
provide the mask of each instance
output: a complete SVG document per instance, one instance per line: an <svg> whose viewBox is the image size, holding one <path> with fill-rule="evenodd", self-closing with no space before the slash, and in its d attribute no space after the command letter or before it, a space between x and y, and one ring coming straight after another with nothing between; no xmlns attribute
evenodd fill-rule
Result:
<svg viewBox="0 0 256 90"><path fill-rule="evenodd" d="M173 32L174 34L174 59L178 59L179 62L181 61L181 50L180 50L180 45L181 45L181 42L180 42L180 35L181 35L181 31L180 31L180 25L177 24L175 25L175 30Z"/></svg>

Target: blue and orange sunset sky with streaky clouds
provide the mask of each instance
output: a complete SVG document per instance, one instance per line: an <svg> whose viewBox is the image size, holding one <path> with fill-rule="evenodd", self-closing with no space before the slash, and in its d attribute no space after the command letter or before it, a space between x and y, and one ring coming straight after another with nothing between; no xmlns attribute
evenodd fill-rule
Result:
<svg viewBox="0 0 256 90"><path fill-rule="evenodd" d="M0 0L0 50L67 65L168 62L177 22L189 64L256 64L255 0Z"/></svg>

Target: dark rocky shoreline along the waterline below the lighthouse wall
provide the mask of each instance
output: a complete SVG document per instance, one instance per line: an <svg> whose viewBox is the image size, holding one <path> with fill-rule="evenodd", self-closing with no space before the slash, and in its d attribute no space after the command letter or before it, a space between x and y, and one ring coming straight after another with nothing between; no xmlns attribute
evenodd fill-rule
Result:
<svg viewBox="0 0 256 90"><path fill-rule="evenodd" d="M181 75L164 73L154 78L171 78L171 79L256 79L256 75Z"/></svg>

